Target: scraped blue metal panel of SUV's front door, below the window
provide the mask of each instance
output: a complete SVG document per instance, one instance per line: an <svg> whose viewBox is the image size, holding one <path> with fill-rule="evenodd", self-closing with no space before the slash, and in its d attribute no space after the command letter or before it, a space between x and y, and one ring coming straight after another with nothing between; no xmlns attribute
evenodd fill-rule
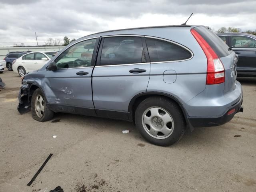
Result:
<svg viewBox="0 0 256 192"><path fill-rule="evenodd" d="M47 71L45 86L49 91L45 94L48 102L94 109L91 86L92 69L93 67ZM81 72L84 72L84 75L78 75Z"/></svg>

